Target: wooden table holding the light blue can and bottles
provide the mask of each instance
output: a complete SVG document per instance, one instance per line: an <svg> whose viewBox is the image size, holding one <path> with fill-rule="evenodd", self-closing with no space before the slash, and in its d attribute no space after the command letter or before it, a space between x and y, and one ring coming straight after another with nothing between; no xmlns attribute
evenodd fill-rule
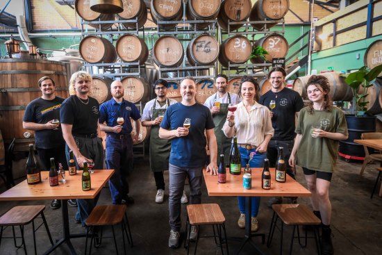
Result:
<svg viewBox="0 0 382 255"><path fill-rule="evenodd" d="M244 168L242 169L242 172L243 171ZM263 172L263 168L252 168L251 190L246 190L243 188L243 174L232 175L229 173L229 169L227 169L226 172L226 183L218 183L216 175L210 175L210 173L206 172L205 169L203 170L208 195L219 197L245 197L245 235L244 238L241 238L242 244L240 245L237 254L240 253L247 242L251 243L259 254L263 254L263 252L261 252L251 240L252 236L264 236L264 234L251 233L251 197L310 197L311 193L290 176L287 176L285 183L276 182L274 180L274 168L270 169L272 176L270 190L263 190L263 188L261 188L261 174Z"/></svg>

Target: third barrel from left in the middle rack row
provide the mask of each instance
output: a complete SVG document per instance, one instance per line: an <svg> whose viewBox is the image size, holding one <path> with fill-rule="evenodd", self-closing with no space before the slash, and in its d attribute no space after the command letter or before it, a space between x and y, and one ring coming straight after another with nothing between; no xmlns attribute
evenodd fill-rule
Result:
<svg viewBox="0 0 382 255"><path fill-rule="evenodd" d="M153 46L153 60L159 67L178 67L183 56L183 45L172 35L161 36Z"/></svg>

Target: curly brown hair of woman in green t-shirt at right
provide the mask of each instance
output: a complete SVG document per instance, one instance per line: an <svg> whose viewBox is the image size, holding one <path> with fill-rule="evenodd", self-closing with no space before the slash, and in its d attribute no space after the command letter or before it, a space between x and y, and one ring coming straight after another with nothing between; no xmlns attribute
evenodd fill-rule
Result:
<svg viewBox="0 0 382 255"><path fill-rule="evenodd" d="M329 80L322 75L312 75L308 79L308 82L306 83L306 94L308 94L308 86L309 85L315 85L321 92L326 92L324 94L324 110L330 112L331 111L331 106L333 106L333 101L331 101L331 85L329 84ZM308 104L309 110L308 113L313 114L313 101L310 101Z"/></svg>

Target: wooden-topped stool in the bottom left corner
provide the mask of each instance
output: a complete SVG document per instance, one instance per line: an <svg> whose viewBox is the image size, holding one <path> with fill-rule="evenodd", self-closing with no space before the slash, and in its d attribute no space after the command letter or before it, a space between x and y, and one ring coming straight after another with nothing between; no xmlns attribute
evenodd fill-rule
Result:
<svg viewBox="0 0 382 255"><path fill-rule="evenodd" d="M24 240L24 225L27 225L32 222L33 244L35 245L35 254L37 254L35 231L37 231L37 229L39 229L42 226L42 224L44 224L45 229L47 229L49 241L51 242L51 245L53 245L53 240L51 239L51 232L49 232L47 220L45 220L45 216L43 212L44 209L45 209L45 206L15 206L12 209L10 209L8 212L4 213L0 217L0 226L1 226L0 244L1 244L1 238L3 237L3 227L12 226L13 237L10 237L10 238L13 238L15 242L15 247L20 248L24 246L24 252L25 254L27 254L25 240ZM38 217L38 215L41 215L42 223L38 226L37 229L35 229L35 218ZM17 245L16 243L16 238L20 238L20 237L15 236L15 226L19 226L20 232L22 234L21 245Z"/></svg>

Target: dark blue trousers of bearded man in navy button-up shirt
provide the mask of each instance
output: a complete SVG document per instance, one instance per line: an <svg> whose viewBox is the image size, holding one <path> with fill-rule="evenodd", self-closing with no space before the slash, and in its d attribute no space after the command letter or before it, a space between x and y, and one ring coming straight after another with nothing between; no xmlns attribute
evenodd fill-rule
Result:
<svg viewBox="0 0 382 255"><path fill-rule="evenodd" d="M127 174L133 168L133 139L106 137L106 167L114 169L109 180L109 188L113 204L121 204L128 195Z"/></svg>

